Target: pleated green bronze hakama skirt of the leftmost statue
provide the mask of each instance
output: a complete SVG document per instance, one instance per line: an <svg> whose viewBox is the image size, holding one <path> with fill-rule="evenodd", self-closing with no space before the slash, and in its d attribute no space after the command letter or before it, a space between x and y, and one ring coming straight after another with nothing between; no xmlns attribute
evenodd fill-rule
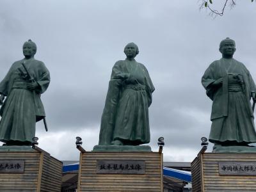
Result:
<svg viewBox="0 0 256 192"><path fill-rule="evenodd" d="M35 104L33 92L13 89L4 103L0 122L0 141L32 141L35 137Z"/></svg>

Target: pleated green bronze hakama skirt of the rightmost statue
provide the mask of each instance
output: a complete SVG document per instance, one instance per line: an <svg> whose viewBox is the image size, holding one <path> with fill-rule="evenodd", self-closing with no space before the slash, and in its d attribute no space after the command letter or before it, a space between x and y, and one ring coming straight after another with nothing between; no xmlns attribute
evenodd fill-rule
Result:
<svg viewBox="0 0 256 192"><path fill-rule="evenodd" d="M228 116L212 120L209 141L236 141L255 143L253 117L247 109L248 103L243 92L228 93Z"/></svg>

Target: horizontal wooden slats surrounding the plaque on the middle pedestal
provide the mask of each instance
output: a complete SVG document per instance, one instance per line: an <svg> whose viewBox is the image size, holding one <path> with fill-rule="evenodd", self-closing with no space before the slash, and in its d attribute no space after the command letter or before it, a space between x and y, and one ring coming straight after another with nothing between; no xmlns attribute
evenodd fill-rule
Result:
<svg viewBox="0 0 256 192"><path fill-rule="evenodd" d="M97 160L143 160L143 175L97 174ZM79 191L162 191L163 173L158 152L86 152L81 154Z"/></svg>

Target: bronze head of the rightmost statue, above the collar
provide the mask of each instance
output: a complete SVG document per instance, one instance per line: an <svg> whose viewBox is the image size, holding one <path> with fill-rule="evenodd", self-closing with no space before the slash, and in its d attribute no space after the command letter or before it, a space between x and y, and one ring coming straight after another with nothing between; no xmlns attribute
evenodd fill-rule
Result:
<svg viewBox="0 0 256 192"><path fill-rule="evenodd" d="M223 57L233 56L234 52L236 51L236 42L231 38L227 37L220 42L219 50L222 53Z"/></svg>

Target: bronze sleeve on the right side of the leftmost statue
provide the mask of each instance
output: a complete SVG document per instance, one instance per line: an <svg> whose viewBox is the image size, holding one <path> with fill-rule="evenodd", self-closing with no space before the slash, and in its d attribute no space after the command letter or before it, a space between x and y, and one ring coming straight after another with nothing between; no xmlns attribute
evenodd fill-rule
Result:
<svg viewBox="0 0 256 192"><path fill-rule="evenodd" d="M44 93L45 90L47 90L50 81L50 72L45 67L44 63L41 62L40 68L38 68L38 78L36 78L36 82L39 84L39 88L36 90L36 92Z"/></svg>

